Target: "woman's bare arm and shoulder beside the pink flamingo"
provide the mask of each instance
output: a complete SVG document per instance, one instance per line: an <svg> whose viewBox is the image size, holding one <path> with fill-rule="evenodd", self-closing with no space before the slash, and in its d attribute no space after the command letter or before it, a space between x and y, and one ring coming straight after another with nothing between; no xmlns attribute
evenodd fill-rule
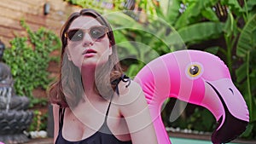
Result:
<svg viewBox="0 0 256 144"><path fill-rule="evenodd" d="M119 88L120 100L124 102L123 105L119 105L119 109L125 117L132 143L157 144L153 121L143 89L135 82L131 82L128 88L124 86Z"/></svg>

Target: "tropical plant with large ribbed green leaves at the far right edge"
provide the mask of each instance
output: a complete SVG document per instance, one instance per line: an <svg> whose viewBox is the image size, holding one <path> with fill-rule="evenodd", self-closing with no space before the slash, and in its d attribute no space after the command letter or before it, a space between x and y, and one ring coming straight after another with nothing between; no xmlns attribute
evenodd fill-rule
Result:
<svg viewBox="0 0 256 144"><path fill-rule="evenodd" d="M236 70L236 81L242 89L250 112L250 124L244 136L256 137L256 14L247 20L237 42L236 55L242 58L241 66Z"/></svg>

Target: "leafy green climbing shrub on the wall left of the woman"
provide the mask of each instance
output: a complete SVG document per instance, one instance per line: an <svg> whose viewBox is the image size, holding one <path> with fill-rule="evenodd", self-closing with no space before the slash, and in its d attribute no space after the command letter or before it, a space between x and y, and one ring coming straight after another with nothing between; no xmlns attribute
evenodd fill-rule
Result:
<svg viewBox="0 0 256 144"><path fill-rule="evenodd" d="M32 95L33 89L46 89L51 79L47 68L50 60L57 60L49 56L50 53L61 47L61 42L54 32L45 28L32 32L24 20L21 26L26 29L27 37L16 36L10 41L3 55L3 61L10 66L15 80L15 93L26 95L31 100L31 106L40 102ZM42 100L45 103L45 100Z"/></svg>

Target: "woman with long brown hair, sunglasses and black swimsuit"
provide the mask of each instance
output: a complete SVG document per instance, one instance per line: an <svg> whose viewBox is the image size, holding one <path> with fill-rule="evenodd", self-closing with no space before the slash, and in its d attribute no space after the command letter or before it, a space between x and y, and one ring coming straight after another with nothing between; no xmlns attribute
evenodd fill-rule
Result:
<svg viewBox="0 0 256 144"><path fill-rule="evenodd" d="M156 144L148 105L119 66L113 32L92 9L61 29L61 68L50 86L55 144Z"/></svg>

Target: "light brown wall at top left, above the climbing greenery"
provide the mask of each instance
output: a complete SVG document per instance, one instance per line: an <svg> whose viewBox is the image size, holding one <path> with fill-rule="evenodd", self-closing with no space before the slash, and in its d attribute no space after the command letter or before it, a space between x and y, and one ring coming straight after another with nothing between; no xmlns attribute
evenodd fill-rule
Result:
<svg viewBox="0 0 256 144"><path fill-rule="evenodd" d="M45 15L44 3L47 2L50 9ZM15 35L24 36L26 32L20 20L26 20L33 31L44 26L59 35L61 26L73 11L79 8L63 0L0 0L0 39L8 47Z"/></svg>

